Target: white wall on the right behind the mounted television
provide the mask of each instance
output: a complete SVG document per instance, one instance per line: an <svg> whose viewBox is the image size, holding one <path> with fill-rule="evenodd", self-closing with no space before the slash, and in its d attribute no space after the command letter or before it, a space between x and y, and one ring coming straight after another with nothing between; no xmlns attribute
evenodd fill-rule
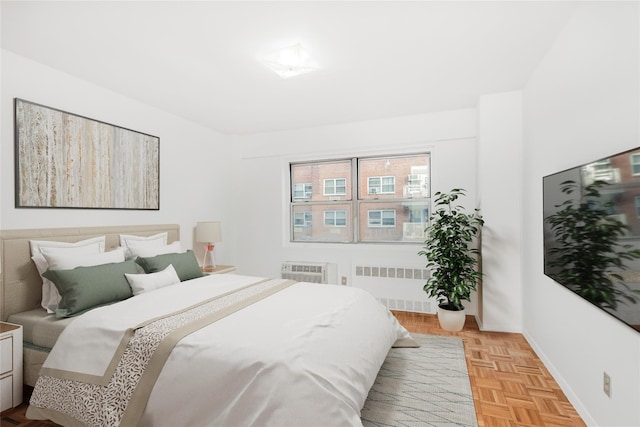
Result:
<svg viewBox="0 0 640 427"><path fill-rule="evenodd" d="M638 35L637 2L584 8L524 90L524 333L593 426L640 425L640 334L544 276L542 177L640 145Z"/></svg>

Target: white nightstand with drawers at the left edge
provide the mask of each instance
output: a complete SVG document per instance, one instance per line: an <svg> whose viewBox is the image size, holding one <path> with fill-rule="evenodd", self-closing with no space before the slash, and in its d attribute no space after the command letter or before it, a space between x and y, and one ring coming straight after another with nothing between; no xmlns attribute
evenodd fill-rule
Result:
<svg viewBox="0 0 640 427"><path fill-rule="evenodd" d="M22 326L0 322L0 411L22 403Z"/></svg>

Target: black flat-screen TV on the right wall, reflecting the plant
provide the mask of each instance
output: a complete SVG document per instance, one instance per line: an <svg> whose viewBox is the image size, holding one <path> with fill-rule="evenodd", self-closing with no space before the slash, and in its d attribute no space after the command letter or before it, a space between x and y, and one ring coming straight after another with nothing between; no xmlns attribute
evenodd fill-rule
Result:
<svg viewBox="0 0 640 427"><path fill-rule="evenodd" d="M543 178L544 273L640 331L640 147Z"/></svg>

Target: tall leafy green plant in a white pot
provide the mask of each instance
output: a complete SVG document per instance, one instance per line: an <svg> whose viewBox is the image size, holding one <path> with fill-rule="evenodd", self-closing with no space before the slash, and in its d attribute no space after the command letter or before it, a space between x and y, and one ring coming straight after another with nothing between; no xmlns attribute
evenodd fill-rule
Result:
<svg viewBox="0 0 640 427"><path fill-rule="evenodd" d="M449 193L435 194L434 212L425 228L427 238L418 255L427 258L431 276L423 289L438 301L438 321L443 329L459 331L464 326L462 301L469 301L482 273L478 271L480 250L473 247L484 220L479 209L465 213L454 202L465 190L454 188Z"/></svg>

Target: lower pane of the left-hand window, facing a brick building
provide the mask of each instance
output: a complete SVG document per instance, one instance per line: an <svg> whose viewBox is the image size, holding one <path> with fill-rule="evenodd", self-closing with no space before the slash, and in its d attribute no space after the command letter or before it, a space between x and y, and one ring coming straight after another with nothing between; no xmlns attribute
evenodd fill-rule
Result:
<svg viewBox="0 0 640 427"><path fill-rule="evenodd" d="M293 225L292 240L296 242L352 242L353 228L350 203L320 203L292 207L292 217L307 213L306 226Z"/></svg>

